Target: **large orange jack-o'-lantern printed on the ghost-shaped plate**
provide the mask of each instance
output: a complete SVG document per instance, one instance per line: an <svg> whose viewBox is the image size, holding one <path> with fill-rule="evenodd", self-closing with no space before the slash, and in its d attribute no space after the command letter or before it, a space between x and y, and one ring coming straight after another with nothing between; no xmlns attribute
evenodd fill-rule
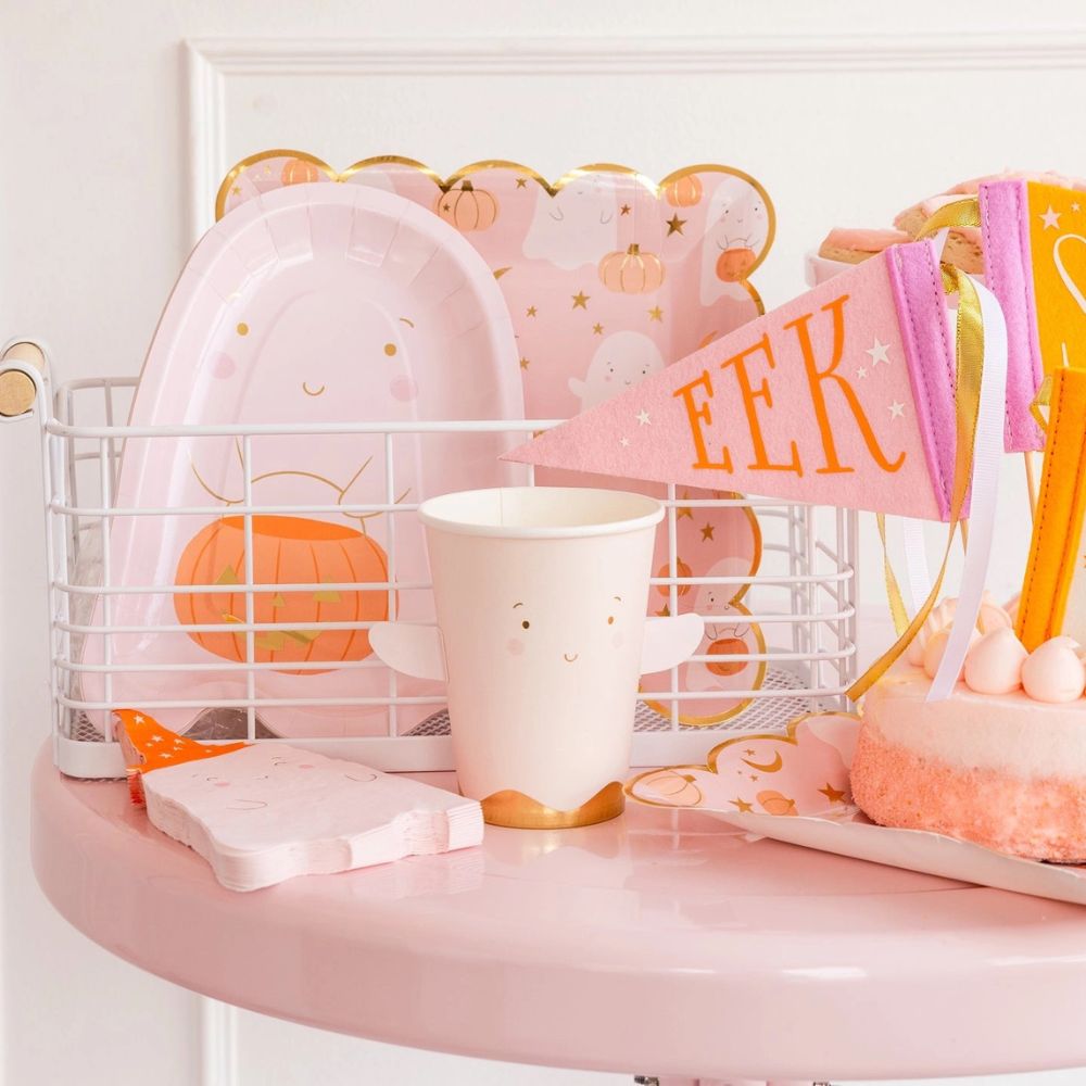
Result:
<svg viewBox="0 0 1086 1086"><path fill-rule="evenodd" d="M303 517L253 517L254 584L382 582L388 580L388 570L381 547L354 528ZM193 535L181 553L175 577L178 586L244 580L243 517L223 517ZM244 592L178 593L174 609L182 626L226 627L223 633L193 632L189 636L223 659L245 660L245 633L229 630L231 623L245 621ZM261 623L379 622L388 615L386 589L253 594L253 620ZM258 664L339 664L365 659L370 652L365 630L263 630L254 640ZM291 671L289 666L276 670L320 673Z"/></svg>

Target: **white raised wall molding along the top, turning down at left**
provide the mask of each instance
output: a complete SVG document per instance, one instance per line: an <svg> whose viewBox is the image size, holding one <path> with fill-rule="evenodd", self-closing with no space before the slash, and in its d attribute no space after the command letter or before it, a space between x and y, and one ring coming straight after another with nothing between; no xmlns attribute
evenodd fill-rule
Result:
<svg viewBox="0 0 1086 1086"><path fill-rule="evenodd" d="M790 75L1086 68L1086 30L780 34L744 37L493 37L358 40L193 38L189 215L193 240L215 217L225 83L261 75Z"/></svg>

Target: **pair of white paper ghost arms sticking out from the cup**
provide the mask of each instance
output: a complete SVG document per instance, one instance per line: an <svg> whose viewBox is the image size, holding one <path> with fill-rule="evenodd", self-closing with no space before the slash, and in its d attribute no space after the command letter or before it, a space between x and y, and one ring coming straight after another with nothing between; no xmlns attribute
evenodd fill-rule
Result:
<svg viewBox="0 0 1086 1086"><path fill-rule="evenodd" d="M687 659L702 641L699 615L677 615L645 621L641 673L667 671ZM369 647L393 671L415 679L447 679L445 647L435 626L415 622L378 622L369 631Z"/></svg>

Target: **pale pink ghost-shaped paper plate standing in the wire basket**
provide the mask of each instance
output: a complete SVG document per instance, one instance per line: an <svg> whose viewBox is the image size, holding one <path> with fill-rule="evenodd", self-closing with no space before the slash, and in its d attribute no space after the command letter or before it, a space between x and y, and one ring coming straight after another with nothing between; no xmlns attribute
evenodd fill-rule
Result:
<svg viewBox="0 0 1086 1086"><path fill-rule="evenodd" d="M146 706L180 731L202 706L255 695L288 703L260 706L268 729L307 736L384 734L387 710L365 703L394 681L401 695L440 695L393 680L365 626L390 614L432 619L429 590L413 588L428 580L420 526L411 512L357 507L522 481L498 463L516 435L387 439L336 426L523 418L517 357L490 269L407 200L307 185L224 218L171 295L130 419L212 432L129 438L113 503L190 512L113 519L110 583L130 591L106 597L110 624L143 632L114 634L108 647L88 636L84 662L108 661L113 673L109 689L101 672L85 674L84 696ZM279 432L214 430L235 426ZM282 432L292 427L311 430ZM251 554L244 518L231 513L247 497L258 510ZM268 586L251 616L232 588L250 571ZM358 582L375 586L350 586ZM175 591L139 591L155 586ZM94 624L105 617L100 599ZM249 621L261 627L253 668L249 633L237 629ZM165 664L184 670L155 669ZM289 704L300 699L327 704ZM434 708L400 707L397 730Z"/></svg>

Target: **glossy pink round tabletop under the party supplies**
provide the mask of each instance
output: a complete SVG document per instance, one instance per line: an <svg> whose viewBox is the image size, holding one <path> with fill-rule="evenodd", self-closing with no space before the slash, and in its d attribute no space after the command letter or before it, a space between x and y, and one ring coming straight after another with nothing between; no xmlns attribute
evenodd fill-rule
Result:
<svg viewBox="0 0 1086 1086"><path fill-rule="evenodd" d="M119 783L34 776L34 861L106 949L228 1002L420 1048L641 1074L1086 1065L1086 909L633 806L598 826L255 894ZM435 783L446 778L433 775Z"/></svg>

